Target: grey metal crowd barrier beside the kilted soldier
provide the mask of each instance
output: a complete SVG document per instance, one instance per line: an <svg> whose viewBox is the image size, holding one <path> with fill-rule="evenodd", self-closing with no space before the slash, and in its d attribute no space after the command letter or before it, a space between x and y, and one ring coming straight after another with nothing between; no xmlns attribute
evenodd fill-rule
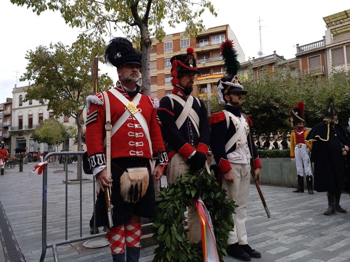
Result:
<svg viewBox="0 0 350 262"><path fill-rule="evenodd" d="M84 154L84 151L79 152L51 152L47 155L45 155L44 161L48 160L50 157L55 155L77 155L77 166L80 166L79 171L79 188L80 188L80 197L79 197L79 206L80 206L80 237L79 238L73 238L68 239L68 161L65 161L65 240L64 241L57 241L57 242L50 242L47 243L47 196L48 196L48 190L47 190L47 170L48 166L44 166L43 169L43 195L42 195L42 253L40 257L40 262L43 262L46 255L46 250L48 248L52 248L52 253L54 255L54 261L58 262L58 252L57 252L57 246L62 245L68 245L70 243L75 243L83 240L89 240L93 238L99 238L101 236L104 236L106 233L99 233L94 234L90 236L82 236L83 230L82 230L82 155ZM96 223L96 212L95 212L95 203L96 203L96 188L95 188L95 177L93 176L93 214L94 214L94 227ZM142 229L151 227L151 223L142 225Z"/></svg>

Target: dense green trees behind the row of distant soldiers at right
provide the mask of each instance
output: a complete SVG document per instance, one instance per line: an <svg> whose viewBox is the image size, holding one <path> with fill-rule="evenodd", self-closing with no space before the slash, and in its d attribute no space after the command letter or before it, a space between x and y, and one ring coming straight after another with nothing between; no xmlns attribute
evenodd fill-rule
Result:
<svg viewBox="0 0 350 262"><path fill-rule="evenodd" d="M266 68L267 70L267 68ZM333 98L339 111L339 123L349 127L350 71L332 68L329 79L325 75L304 75L289 66L280 66L275 72L267 70L263 79L242 81L244 90L242 111L253 121L254 132L288 132L291 126L289 110L298 102L305 104L306 126L312 128L323 119L328 98ZM208 100L208 99L205 99ZM207 101L206 101L207 102ZM209 101L212 112L223 110L217 94Z"/></svg>

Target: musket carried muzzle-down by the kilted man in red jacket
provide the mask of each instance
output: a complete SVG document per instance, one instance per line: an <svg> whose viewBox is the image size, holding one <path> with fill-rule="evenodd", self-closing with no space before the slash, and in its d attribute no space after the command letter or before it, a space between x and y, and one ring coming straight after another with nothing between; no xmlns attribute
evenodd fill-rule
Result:
<svg viewBox="0 0 350 262"><path fill-rule="evenodd" d="M93 89L92 89L92 95L96 95L97 89L98 89L98 58L95 57L91 64L90 64L90 70L91 70L91 76L92 76L92 83L93 83ZM107 174L111 175L111 174ZM106 201L106 212L107 212L107 220L108 220L108 227L113 227L113 211L112 211L112 202L111 202L111 185L109 187L104 187L104 195L105 195L105 201Z"/></svg>

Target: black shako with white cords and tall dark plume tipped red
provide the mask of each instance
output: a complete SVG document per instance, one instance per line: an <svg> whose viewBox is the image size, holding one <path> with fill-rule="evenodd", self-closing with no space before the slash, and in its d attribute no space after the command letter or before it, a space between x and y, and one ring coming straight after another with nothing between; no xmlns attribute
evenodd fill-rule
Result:
<svg viewBox="0 0 350 262"><path fill-rule="evenodd" d="M220 45L221 56L224 60L226 76L221 78L217 82L219 103L225 103L224 96L235 92L241 92L242 95L246 95L247 91L243 91L237 72L241 68L237 59L238 53L234 49L233 41L227 39Z"/></svg>

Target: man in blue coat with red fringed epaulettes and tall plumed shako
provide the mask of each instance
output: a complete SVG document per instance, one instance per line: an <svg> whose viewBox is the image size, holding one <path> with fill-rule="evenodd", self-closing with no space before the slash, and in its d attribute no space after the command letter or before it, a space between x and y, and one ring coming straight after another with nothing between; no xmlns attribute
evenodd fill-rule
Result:
<svg viewBox="0 0 350 262"><path fill-rule="evenodd" d="M261 257L258 251L248 245L245 229L251 177L250 163L255 167L254 179L258 182L261 178L261 164L251 132L252 122L240 111L243 95L247 92L243 90L236 75L240 67L239 62L232 61L232 57L237 57L236 50L233 49L231 40L223 42L220 50L228 75L217 83L218 97L219 103L226 103L226 106L222 112L212 114L210 118L210 148L219 168L219 182L224 184L228 197L238 205L236 214L232 214L235 228L229 233L227 253L246 261L251 257ZM236 64L236 67L232 68L232 64Z"/></svg>

